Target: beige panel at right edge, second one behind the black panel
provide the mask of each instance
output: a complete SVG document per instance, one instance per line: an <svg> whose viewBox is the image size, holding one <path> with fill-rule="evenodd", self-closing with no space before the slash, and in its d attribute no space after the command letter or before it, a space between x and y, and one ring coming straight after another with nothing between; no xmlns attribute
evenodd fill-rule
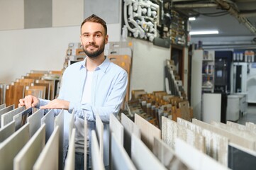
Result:
<svg viewBox="0 0 256 170"><path fill-rule="evenodd" d="M231 135L236 135L238 137L242 137L243 139L247 140L247 148L248 149L252 149L256 151L256 134L252 133L252 132L246 132L246 131L242 131L242 130L237 130L234 129L228 125L226 125L225 123L218 123L218 122L211 122L211 125L213 125L216 128L219 128L221 130L225 130L226 132L230 133ZM230 142L233 142L233 140L230 140ZM243 141L241 141L243 142ZM235 143L235 142L233 142ZM235 143L237 145L239 145L238 143ZM243 142L243 144L245 144L245 142ZM243 147L245 147L245 145L242 145ZM252 146L252 147L250 147Z"/></svg>

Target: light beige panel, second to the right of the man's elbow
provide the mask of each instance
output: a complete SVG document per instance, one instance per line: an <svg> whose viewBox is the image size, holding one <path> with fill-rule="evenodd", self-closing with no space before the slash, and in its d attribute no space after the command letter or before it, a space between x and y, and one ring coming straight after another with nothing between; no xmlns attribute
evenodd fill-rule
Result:
<svg viewBox="0 0 256 170"><path fill-rule="evenodd" d="M140 128L123 113L121 113L121 123L123 125L123 147L130 157L131 135L134 134L140 139Z"/></svg>

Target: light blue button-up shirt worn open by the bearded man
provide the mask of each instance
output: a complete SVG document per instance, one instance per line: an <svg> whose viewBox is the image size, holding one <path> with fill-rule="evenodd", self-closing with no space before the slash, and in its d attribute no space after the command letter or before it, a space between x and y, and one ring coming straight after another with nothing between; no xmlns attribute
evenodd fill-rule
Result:
<svg viewBox="0 0 256 170"><path fill-rule="evenodd" d="M68 112L72 113L74 111L74 116L78 117L77 124L79 124L78 120L87 119L89 136L91 130L95 129L95 115L99 114L104 123L104 164L108 165L109 117L111 113L117 115L120 111L123 98L126 96L128 74L106 57L104 62L94 70L91 85L91 103L82 104L86 77L86 59L69 65L62 76L58 99L69 101ZM49 100L40 99L39 105L45 106L48 102ZM55 110L55 114L59 111ZM77 131L81 132L78 129ZM77 143L82 145L82 142L77 141Z"/></svg>

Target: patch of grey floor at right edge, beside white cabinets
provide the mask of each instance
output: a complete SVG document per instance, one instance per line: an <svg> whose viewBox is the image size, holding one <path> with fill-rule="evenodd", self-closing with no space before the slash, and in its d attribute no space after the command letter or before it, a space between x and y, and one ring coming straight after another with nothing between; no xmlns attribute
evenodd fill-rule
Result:
<svg viewBox="0 0 256 170"><path fill-rule="evenodd" d="M248 105L247 114L240 117L238 120L239 124L245 125L246 122L251 122L256 124L256 106Z"/></svg>

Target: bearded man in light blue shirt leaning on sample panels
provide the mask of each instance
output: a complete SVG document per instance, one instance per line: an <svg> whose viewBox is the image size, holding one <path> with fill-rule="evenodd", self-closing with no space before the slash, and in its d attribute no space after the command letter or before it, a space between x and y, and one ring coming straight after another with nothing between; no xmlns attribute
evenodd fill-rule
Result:
<svg viewBox="0 0 256 170"><path fill-rule="evenodd" d="M87 57L67 67L58 98L48 101L26 96L19 101L19 106L74 111L76 169L84 169L84 119L88 121L89 134L95 128L96 114L103 121L104 130L108 130L109 116L120 111L128 82L126 71L104 56L104 46L108 43L104 20L95 15L86 18L81 25L80 40ZM77 161L79 159L81 162Z"/></svg>

